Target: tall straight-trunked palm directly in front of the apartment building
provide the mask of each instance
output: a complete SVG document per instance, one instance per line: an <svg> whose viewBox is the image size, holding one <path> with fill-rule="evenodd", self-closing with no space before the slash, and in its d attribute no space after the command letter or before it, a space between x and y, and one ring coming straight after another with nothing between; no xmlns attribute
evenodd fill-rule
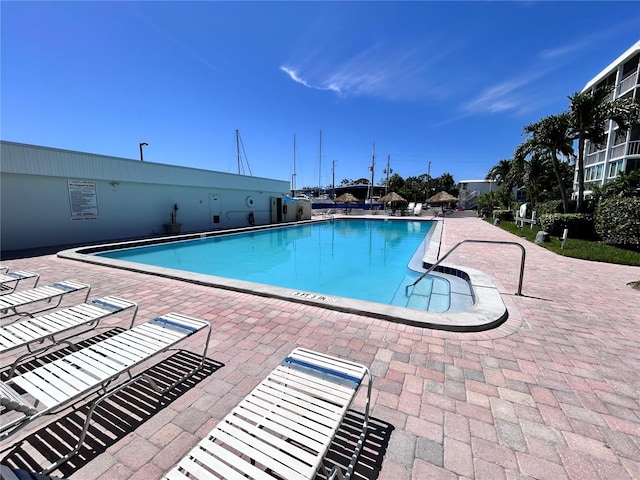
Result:
<svg viewBox="0 0 640 480"><path fill-rule="evenodd" d="M638 123L640 103L631 97L608 100L612 87L593 92L574 93L569 97L568 112L571 140L578 140L578 199L576 210L581 211L584 200L584 147L587 140L601 147L607 139L607 122L613 120L621 134Z"/></svg>

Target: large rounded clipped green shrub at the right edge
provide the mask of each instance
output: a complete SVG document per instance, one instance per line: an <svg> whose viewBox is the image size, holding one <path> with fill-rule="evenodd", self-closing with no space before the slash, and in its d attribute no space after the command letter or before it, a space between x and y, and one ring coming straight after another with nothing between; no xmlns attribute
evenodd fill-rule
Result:
<svg viewBox="0 0 640 480"><path fill-rule="evenodd" d="M598 204L595 229L611 245L640 245L640 197L609 198Z"/></svg>

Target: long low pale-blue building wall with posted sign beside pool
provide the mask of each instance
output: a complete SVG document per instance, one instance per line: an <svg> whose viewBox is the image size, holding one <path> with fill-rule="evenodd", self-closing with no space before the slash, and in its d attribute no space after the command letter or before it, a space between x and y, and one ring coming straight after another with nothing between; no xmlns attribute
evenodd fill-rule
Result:
<svg viewBox="0 0 640 480"><path fill-rule="evenodd" d="M287 181L13 142L0 149L2 252L164 235L175 203L182 232L248 226L250 212L256 225L268 224L272 198L290 188ZM71 200L83 183L84 195Z"/></svg>

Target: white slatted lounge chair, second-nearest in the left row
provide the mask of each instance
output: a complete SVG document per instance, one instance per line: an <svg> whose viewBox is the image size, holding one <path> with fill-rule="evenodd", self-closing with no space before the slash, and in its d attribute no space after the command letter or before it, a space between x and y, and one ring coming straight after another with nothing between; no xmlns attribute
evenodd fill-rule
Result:
<svg viewBox="0 0 640 480"><path fill-rule="evenodd" d="M97 298L80 305L56 310L38 317L28 317L0 327L0 354L21 347L26 347L27 350L15 359L9 370L8 378L13 377L16 366L25 358L34 357L61 343L70 345L71 338L93 330L106 317L130 308L133 308L129 325L131 328L138 312L138 305L113 296ZM80 327L87 328L80 329ZM64 336L58 338L62 335Z"/></svg>

